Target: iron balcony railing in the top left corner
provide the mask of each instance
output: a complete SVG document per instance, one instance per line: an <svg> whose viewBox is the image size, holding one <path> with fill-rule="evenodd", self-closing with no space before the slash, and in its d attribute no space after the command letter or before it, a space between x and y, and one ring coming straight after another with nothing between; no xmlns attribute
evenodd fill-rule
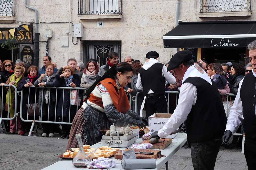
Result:
<svg viewBox="0 0 256 170"><path fill-rule="evenodd" d="M0 0L0 16L15 16L15 0Z"/></svg>

